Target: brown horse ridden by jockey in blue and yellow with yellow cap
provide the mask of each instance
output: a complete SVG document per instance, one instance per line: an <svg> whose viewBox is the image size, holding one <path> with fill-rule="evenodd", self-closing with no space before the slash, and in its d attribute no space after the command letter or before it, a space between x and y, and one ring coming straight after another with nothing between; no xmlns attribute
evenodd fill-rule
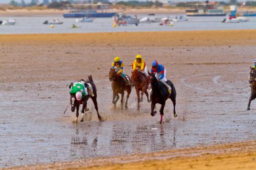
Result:
<svg viewBox="0 0 256 170"><path fill-rule="evenodd" d="M112 103L117 107L117 101L119 100L119 93L121 94L121 108L123 109L123 95L127 91L127 97L125 101L125 108L127 108L127 101L131 93L131 85L126 85L125 80L121 75L117 75L115 69L110 69L109 71L109 80L112 81L112 90L113 90L113 101ZM115 99L117 97L117 99Z"/></svg>

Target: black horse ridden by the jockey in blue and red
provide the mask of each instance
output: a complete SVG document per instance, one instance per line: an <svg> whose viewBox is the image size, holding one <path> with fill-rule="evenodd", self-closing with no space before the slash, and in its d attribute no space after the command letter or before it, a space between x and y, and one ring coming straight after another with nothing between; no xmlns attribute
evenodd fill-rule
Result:
<svg viewBox="0 0 256 170"><path fill-rule="evenodd" d="M150 99L151 99L151 116L155 116L156 115L156 111L154 111L154 108L156 106L156 103L159 103L161 105L160 108L160 124L162 123L162 117L164 116L164 105L165 102L168 98L170 98L172 100L173 103L173 115L174 117L177 117L177 114L175 112L175 105L176 105L176 90L175 87L172 83L172 81L167 81L166 83L168 85L170 85L171 89L172 89L172 93L169 94L168 93L168 89L167 87L163 84L160 83L160 81L158 81L158 79L156 79L155 74L149 74L149 81L150 81L150 85L152 88L152 93L150 94Z"/></svg>

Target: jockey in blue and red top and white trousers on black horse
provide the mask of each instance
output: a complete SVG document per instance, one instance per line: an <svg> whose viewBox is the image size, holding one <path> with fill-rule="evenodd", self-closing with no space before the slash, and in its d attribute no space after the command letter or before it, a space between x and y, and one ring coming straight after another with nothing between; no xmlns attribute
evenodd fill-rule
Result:
<svg viewBox="0 0 256 170"><path fill-rule="evenodd" d="M163 65L158 65L158 62L154 60L152 62L151 73L156 73L156 79L161 81L161 83L163 83L167 87L168 93L172 92L170 86L166 83L166 69Z"/></svg>

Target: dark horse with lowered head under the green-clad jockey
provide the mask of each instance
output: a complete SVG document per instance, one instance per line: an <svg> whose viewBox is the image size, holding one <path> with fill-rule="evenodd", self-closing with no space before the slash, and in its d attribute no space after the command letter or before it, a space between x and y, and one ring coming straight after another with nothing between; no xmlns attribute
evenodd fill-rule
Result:
<svg viewBox="0 0 256 170"><path fill-rule="evenodd" d="M94 81L92 80L92 75L88 76L88 81L84 81L84 79L78 81L79 83L83 83L85 87L88 87L87 83L90 83L90 85L92 85L92 89L93 89L93 93L94 93L94 97L92 97L92 95L86 95L86 97L84 97L84 99L82 99L82 101L77 101L77 99L75 99L75 95L70 95L70 104L71 104L71 111L75 112L75 108L76 108L76 118L75 118L75 122L77 123L77 118L79 116L79 105L83 104L82 107L82 119L81 122L84 122L84 111L87 111L87 101L89 98L92 99L92 101L94 102L94 108L97 111L98 114L98 103L97 103L97 89L96 89L96 85L94 84ZM70 83L69 85L69 89L73 86L73 83ZM102 120L100 114L98 114L98 120Z"/></svg>

